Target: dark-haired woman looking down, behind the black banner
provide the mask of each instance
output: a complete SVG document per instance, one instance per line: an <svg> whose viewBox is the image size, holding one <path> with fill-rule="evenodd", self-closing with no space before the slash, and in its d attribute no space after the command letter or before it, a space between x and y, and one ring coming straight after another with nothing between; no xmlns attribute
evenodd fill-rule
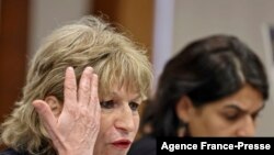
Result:
<svg viewBox="0 0 274 155"><path fill-rule="evenodd" d="M148 136L129 155L156 154L157 136L253 136L267 97L263 65L244 43L228 35L197 40L165 65L142 120Z"/></svg>

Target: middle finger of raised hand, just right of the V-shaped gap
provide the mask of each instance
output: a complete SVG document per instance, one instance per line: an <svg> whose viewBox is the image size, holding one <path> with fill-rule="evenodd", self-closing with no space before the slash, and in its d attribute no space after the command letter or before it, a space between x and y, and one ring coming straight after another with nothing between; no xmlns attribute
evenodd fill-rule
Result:
<svg viewBox="0 0 274 155"><path fill-rule="evenodd" d="M93 69L91 67L87 67L82 73L78 90L78 102L81 106L88 107L91 98L92 73Z"/></svg>

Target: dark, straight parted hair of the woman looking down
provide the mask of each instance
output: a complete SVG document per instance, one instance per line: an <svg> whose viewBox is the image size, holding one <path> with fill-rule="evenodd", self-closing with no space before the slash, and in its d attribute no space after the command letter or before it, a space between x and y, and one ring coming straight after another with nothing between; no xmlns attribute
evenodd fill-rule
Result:
<svg viewBox="0 0 274 155"><path fill-rule="evenodd" d="M150 112L142 120L153 135L176 136L175 107L187 96L194 107L219 100L246 84L269 98L269 84L259 57L235 36L213 35L189 44L165 65ZM153 110L153 111L151 111ZM147 119L147 120L146 120Z"/></svg>

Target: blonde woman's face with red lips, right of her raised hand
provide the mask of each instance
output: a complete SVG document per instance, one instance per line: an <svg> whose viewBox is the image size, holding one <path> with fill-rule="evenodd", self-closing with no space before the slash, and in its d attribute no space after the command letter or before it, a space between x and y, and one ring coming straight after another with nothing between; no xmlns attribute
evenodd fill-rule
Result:
<svg viewBox="0 0 274 155"><path fill-rule="evenodd" d="M115 89L101 100L101 126L94 155L126 155L139 128L140 96Z"/></svg>

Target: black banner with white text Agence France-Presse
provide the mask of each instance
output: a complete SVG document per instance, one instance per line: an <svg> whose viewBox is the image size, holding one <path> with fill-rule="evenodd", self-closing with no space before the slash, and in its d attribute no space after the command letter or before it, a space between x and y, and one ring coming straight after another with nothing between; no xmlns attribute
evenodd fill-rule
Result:
<svg viewBox="0 0 274 155"><path fill-rule="evenodd" d="M195 151L274 151L274 137L158 137L157 155Z"/></svg>

